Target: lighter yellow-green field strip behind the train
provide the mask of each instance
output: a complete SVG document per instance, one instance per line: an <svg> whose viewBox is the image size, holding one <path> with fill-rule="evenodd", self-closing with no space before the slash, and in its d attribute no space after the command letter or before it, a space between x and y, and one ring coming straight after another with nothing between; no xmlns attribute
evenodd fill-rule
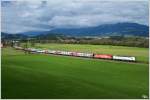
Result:
<svg viewBox="0 0 150 100"><path fill-rule="evenodd" d="M135 56L136 60L142 63L148 63L149 60L148 48L82 44L36 44L36 48Z"/></svg>

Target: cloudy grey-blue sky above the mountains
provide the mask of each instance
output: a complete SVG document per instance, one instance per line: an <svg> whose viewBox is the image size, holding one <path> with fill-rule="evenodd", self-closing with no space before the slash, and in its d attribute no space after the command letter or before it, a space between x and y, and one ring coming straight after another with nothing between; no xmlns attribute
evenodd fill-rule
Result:
<svg viewBox="0 0 150 100"><path fill-rule="evenodd" d="M148 0L21 0L1 2L1 31L22 33L122 22L148 25Z"/></svg>

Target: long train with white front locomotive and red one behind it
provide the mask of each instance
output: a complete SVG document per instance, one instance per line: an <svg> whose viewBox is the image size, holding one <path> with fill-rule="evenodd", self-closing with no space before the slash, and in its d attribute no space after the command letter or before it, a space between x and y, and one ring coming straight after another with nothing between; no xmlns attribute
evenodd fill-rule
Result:
<svg viewBox="0 0 150 100"><path fill-rule="evenodd" d="M108 59L108 60L130 61L130 62L135 62L136 61L135 57L131 57L131 56L83 53L83 52L60 51L60 50L43 50L43 49L35 49L35 48L22 48L22 47L18 47L18 46L14 46L14 48L17 49L17 50L28 51L29 53L54 54L54 55L85 57L85 58L93 58L93 59Z"/></svg>

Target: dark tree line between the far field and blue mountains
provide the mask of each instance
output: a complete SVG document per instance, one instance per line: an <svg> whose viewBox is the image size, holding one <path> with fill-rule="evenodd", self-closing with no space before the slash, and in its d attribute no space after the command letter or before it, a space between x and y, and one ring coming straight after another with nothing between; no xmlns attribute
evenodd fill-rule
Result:
<svg viewBox="0 0 150 100"><path fill-rule="evenodd" d="M53 36L53 37L36 37L30 39L21 39L20 43L30 43L34 47L36 43L65 43L65 44L92 44L92 45L115 45L115 46L130 46L130 47L149 47L149 39L146 37L124 37L124 36L110 36L110 37L67 37L67 36ZM12 45L8 40L2 41L3 45ZM20 45L18 43L18 45ZM27 45L27 44L26 44Z"/></svg>

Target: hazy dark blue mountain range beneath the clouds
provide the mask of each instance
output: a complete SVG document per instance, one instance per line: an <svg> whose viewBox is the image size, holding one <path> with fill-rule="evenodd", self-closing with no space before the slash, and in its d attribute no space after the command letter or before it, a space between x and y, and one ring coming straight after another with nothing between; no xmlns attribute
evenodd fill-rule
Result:
<svg viewBox="0 0 150 100"><path fill-rule="evenodd" d="M149 26L137 23L103 24L85 28L55 28L50 31L30 31L19 33L23 36L62 34L66 36L149 36ZM18 35L19 35L18 34ZM3 36L3 34L2 34Z"/></svg>

